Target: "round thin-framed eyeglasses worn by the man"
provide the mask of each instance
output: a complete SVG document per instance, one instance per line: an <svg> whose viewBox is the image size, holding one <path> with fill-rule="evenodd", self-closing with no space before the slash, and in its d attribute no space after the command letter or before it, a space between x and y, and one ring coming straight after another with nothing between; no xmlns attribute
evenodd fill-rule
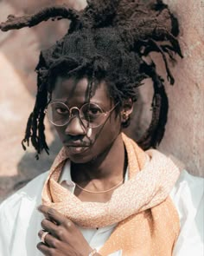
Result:
<svg viewBox="0 0 204 256"><path fill-rule="evenodd" d="M67 123L73 119L74 115L78 115L84 127L97 128L103 124L106 116L111 113L117 105L118 103L109 111L104 111L99 105L92 102L85 103L81 108L68 108L63 102L51 102L48 104L45 113L48 116L48 120L54 124L54 126L61 127L67 125Z"/></svg>

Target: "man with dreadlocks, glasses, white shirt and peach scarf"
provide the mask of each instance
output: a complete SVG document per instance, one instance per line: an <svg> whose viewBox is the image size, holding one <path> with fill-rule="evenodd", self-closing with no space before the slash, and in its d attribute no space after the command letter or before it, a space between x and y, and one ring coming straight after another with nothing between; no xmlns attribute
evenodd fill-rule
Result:
<svg viewBox="0 0 204 256"><path fill-rule="evenodd" d="M56 16L72 23L60 42L41 52L35 108L22 145L31 139L37 157L48 151L47 114L64 147L49 173L0 208L3 255L201 255L196 223L202 181L180 174L169 158L156 150L144 152L122 134L130 124L136 87L150 77L153 115L139 143L146 149L163 138L168 99L155 63L145 56L161 53L174 83L165 54L182 56L175 17L161 1L92 1L80 13L48 8L35 16L10 17L1 28ZM35 209L41 200L44 217ZM185 209L193 205L192 216Z"/></svg>

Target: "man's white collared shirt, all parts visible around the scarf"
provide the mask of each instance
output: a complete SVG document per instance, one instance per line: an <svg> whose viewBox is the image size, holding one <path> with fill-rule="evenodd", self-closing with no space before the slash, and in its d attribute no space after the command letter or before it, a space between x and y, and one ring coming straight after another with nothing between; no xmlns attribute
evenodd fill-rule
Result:
<svg viewBox="0 0 204 256"><path fill-rule="evenodd" d="M36 244L40 241L37 233L41 230L41 220L44 217L36 207L41 204L41 190L47 176L48 172L37 176L26 187L20 189L0 205L0 256L42 255L37 250ZM127 179L126 174L125 180ZM71 179L68 161L60 182L71 192L74 191L75 184ZM173 256L204 255L203 192L204 180L182 171L170 193L181 223L181 233L176 242ZM80 231L92 248L99 249L109 238L116 225L99 229L80 228ZM110 254L110 256L122 255L122 251Z"/></svg>

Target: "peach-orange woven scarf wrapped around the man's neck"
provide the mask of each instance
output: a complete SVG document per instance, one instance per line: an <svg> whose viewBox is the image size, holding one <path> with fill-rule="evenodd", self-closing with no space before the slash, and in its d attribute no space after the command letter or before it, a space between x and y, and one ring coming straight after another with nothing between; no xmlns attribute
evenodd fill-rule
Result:
<svg viewBox="0 0 204 256"><path fill-rule="evenodd" d="M62 148L42 189L42 203L84 228L118 223L99 251L103 256L120 249L123 256L170 256L180 226L169 193L178 179L179 168L158 151L143 152L126 135L122 137L129 181L115 189L111 200L83 202L58 183L68 158L66 148Z"/></svg>

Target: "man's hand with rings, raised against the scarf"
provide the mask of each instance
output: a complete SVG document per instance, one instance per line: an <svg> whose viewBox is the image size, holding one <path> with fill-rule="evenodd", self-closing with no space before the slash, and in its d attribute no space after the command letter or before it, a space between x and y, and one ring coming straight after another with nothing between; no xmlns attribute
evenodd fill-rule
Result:
<svg viewBox="0 0 204 256"><path fill-rule="evenodd" d="M92 252L92 248L73 221L50 207L41 205L38 210L46 218L41 221L43 230L38 236L41 239L42 233L48 232L45 243L37 245L41 253L48 256L87 256Z"/></svg>

